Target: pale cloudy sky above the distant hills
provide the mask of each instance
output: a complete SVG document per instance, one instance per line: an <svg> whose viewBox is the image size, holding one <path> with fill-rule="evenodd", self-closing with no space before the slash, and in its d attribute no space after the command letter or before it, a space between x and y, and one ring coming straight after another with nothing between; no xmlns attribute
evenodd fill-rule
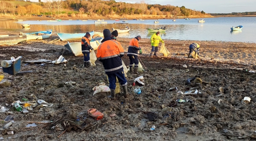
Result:
<svg viewBox="0 0 256 141"><path fill-rule="evenodd" d="M139 3L141 0L115 0L116 2ZM146 4L173 5L205 13L232 13L256 11L256 0L143 0Z"/></svg>

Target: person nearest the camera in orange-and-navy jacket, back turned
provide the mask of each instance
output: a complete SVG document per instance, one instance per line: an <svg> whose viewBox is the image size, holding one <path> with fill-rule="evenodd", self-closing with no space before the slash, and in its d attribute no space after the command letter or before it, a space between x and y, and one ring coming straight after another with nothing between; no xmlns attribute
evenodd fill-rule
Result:
<svg viewBox="0 0 256 141"><path fill-rule="evenodd" d="M96 56L97 59L102 62L105 73L108 75L111 98L115 98L116 78L122 85L124 97L127 98L127 80L124 76L121 59L121 57L124 56L124 49L118 41L113 40L109 29L104 29L103 35L104 39L98 46Z"/></svg>

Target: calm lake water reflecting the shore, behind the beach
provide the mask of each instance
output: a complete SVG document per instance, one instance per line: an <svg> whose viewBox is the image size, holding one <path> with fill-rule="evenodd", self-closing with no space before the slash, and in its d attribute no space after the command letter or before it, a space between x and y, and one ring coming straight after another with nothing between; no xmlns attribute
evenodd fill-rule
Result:
<svg viewBox="0 0 256 141"><path fill-rule="evenodd" d="M129 33L119 34L119 37L134 38L140 35L142 38L150 38L147 28L166 27L165 33L161 34L162 39L174 40L204 40L204 41L231 41L231 42L252 42L256 43L256 17L221 17L221 18L204 18L205 23L198 23L199 18L185 20L160 19L157 20L127 20L131 30ZM115 20L105 20L107 24L94 24L96 20L65 20L64 22L47 22L47 21L0 21L0 31L20 31L30 33L34 31L43 31L52 29L54 32L61 33L85 33L87 31L100 31L104 29L124 28L125 25L116 25ZM30 24L30 29L22 29L21 25ZM230 27L243 25L241 31L231 32ZM112 31L112 30L111 30Z"/></svg>

